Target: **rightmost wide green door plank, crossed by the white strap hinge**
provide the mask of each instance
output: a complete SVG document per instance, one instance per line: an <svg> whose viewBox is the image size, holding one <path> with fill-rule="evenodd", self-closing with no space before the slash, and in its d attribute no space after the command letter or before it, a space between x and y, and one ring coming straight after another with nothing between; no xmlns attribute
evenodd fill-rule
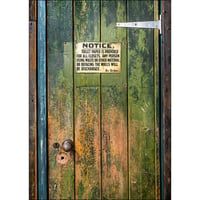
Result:
<svg viewBox="0 0 200 200"><path fill-rule="evenodd" d="M154 19L153 1L128 1L127 21ZM153 30L128 30L130 199L156 199ZM157 101L157 100L156 100Z"/></svg>

